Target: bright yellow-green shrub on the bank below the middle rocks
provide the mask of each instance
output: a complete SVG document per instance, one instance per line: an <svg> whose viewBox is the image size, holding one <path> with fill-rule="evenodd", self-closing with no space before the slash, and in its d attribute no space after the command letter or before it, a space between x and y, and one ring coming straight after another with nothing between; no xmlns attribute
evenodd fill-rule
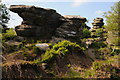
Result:
<svg viewBox="0 0 120 80"><path fill-rule="evenodd" d="M68 53L82 50L84 50L84 48L79 46L78 44L64 40L62 42L59 42L58 44L55 44L51 49L48 49L45 54L42 55L42 62L50 62L55 59L56 56L63 57Z"/></svg>

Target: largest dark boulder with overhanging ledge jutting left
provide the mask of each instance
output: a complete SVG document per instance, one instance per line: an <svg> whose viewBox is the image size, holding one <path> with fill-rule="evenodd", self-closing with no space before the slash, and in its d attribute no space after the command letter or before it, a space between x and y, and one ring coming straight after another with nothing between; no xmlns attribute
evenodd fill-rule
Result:
<svg viewBox="0 0 120 80"><path fill-rule="evenodd" d="M62 16L53 9L34 6L12 5L10 10L23 18L21 25L15 28L18 36L43 37L51 36L61 24Z"/></svg>

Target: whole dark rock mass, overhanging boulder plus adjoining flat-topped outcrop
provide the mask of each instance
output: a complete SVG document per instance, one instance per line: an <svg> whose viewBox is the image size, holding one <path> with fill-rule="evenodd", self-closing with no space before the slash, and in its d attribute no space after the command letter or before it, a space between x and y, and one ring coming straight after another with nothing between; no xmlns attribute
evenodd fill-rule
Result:
<svg viewBox="0 0 120 80"><path fill-rule="evenodd" d="M86 22L81 16L61 16L53 9L35 6L12 5L10 10L23 18L21 25L16 26L18 36L50 39L52 36L68 38L80 36ZM87 27L87 26L86 26Z"/></svg>

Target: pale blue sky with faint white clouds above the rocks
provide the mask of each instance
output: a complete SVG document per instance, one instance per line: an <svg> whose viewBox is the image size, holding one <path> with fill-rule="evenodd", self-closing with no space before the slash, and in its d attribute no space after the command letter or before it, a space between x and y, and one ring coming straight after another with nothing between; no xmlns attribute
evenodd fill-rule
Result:
<svg viewBox="0 0 120 80"><path fill-rule="evenodd" d="M3 0L2 3L7 6L34 5L43 8L52 8L61 15L80 15L85 17L88 20L86 24L92 27L91 23L93 19L96 17L104 18L104 12L110 11L110 7L113 6L116 1L117 0ZM22 18L16 13L10 12L10 15L9 27L13 28L21 24Z"/></svg>

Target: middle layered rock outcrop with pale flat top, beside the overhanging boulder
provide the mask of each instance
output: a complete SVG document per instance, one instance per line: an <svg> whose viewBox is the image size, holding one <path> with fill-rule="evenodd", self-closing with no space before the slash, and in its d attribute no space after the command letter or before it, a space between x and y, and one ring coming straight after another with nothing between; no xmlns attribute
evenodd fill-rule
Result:
<svg viewBox="0 0 120 80"><path fill-rule="evenodd" d="M72 15L66 15L64 18L64 23L57 28L57 36L66 39L80 37L83 28L87 27L86 25L83 25L83 23L87 21L86 18Z"/></svg>

